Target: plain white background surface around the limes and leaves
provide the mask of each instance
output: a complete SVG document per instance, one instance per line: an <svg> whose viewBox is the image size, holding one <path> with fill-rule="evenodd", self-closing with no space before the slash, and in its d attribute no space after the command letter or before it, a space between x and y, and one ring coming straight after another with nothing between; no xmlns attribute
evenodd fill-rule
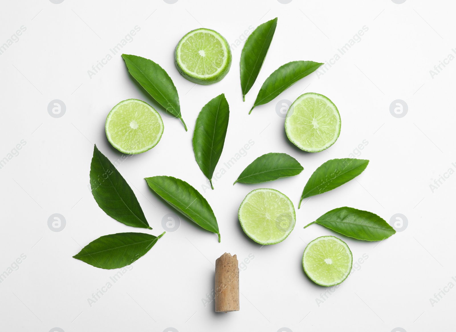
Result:
<svg viewBox="0 0 456 332"><path fill-rule="evenodd" d="M449 168L454 153L454 75L449 62L433 78L430 70L452 53L455 44L454 3L407 0L378 1L2 1L0 45L21 26L26 31L0 56L0 157L21 140L26 145L0 169L0 273L21 254L26 259L0 284L0 330L65 332L164 331L449 331L454 328L456 289L432 306L430 298L456 275L454 190L451 175L434 190L430 184ZM244 31L279 17L277 30L253 88L242 101L239 58ZM211 204L222 236L206 232L181 217L180 228L167 232L96 303L88 298L110 281L116 270L101 270L72 256L99 236L142 231L108 217L88 189L93 144L111 161L121 157L106 140L109 110L129 98L156 103L129 77L117 54L95 76L88 70L135 26L140 31L121 52L158 62L179 92L182 117L163 115L160 143L127 158L118 169L128 179L153 230L175 211L159 200L143 180L169 175L196 187ZM179 39L198 27L212 28L233 44L228 75L210 86L182 78L174 66ZM313 73L278 98L248 111L264 80L293 60L329 61L363 26L368 31L323 75ZM339 53L340 54L340 53ZM454 53L453 53L454 54ZM456 54L455 54L456 55ZM287 140L284 119L275 111L282 99L303 92L328 96L342 117L337 142L320 153L305 153ZM230 120L218 169L249 140L254 145L217 182L206 179L192 150L198 112L225 93ZM53 118L47 105L66 105ZM390 104L408 105L403 118L392 116ZM161 110L160 107L157 109ZM359 158L366 171L342 187L312 197L296 209L294 231L282 243L261 247L245 236L237 211L254 188L272 187L295 204L321 163L348 157L363 140ZM258 156L285 152L304 166L294 177L259 185L234 180ZM16 154L16 152L14 152ZM451 198L452 197L452 198ZM307 223L337 207L377 213L390 222L395 213L408 227L381 243L340 236L353 259L363 264L323 303L324 287L304 274L306 243L336 235ZM60 213L66 227L52 232L47 219ZM240 311L216 314L202 299L213 288L214 263L224 252L254 259L240 272ZM442 293L441 293L442 294ZM438 296L437 296L438 298ZM401 327L403 330L396 329ZM54 329L52 329L54 331ZM55 330L60 331L60 330ZM168 330L166 330L168 331ZM170 330L175 331L175 330Z"/></svg>

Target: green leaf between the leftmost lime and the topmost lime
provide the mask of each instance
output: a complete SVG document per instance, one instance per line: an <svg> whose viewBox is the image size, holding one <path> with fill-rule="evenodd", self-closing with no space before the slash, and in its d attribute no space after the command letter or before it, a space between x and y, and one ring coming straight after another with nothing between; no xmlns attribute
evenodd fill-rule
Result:
<svg viewBox="0 0 456 332"><path fill-rule="evenodd" d="M144 57L122 54L128 71L141 86L163 106L166 111L181 119L185 130L187 125L181 117L181 104L177 89L171 77L158 63Z"/></svg>

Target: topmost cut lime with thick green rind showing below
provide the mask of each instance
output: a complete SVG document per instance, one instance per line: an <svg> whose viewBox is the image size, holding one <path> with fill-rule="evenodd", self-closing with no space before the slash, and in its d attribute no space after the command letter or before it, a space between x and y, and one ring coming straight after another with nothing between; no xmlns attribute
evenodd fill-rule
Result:
<svg viewBox="0 0 456 332"><path fill-rule="evenodd" d="M216 83L231 67L231 50L218 32L210 29L192 30L176 46L174 60L179 73L198 84Z"/></svg>

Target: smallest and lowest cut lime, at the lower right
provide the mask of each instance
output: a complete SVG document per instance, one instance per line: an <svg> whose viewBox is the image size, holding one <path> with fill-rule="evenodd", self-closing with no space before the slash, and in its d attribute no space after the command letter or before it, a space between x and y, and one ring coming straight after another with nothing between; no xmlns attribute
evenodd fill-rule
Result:
<svg viewBox="0 0 456 332"><path fill-rule="evenodd" d="M339 285L352 270L352 252L335 236L321 236L307 244L302 255L304 271L321 286Z"/></svg>

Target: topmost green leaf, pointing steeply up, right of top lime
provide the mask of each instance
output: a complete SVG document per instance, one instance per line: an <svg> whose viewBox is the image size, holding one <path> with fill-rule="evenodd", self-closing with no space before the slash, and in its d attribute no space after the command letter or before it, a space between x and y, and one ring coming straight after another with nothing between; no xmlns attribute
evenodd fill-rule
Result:
<svg viewBox="0 0 456 332"><path fill-rule="evenodd" d="M245 101L245 95L255 83L264 58L268 53L274 36L275 27L277 26L277 17L274 20L267 21L252 32L245 41L241 53L241 88L242 97Z"/></svg>

